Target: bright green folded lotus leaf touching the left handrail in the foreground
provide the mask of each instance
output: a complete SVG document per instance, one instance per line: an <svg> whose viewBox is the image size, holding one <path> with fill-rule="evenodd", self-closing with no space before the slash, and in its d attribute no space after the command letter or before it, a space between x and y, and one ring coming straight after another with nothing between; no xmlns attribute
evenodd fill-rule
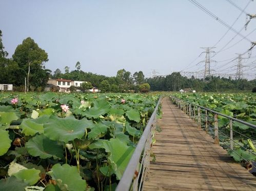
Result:
<svg viewBox="0 0 256 191"><path fill-rule="evenodd" d="M133 154L134 148L127 146L118 138L111 138L110 140L99 141L99 145L110 153L108 159L111 162L111 168L116 175L116 179L120 180L125 168Z"/></svg>

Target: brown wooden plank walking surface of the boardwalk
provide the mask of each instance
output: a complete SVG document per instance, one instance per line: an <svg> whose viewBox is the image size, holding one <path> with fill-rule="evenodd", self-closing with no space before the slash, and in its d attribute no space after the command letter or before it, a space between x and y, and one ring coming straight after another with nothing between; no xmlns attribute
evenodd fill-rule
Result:
<svg viewBox="0 0 256 191"><path fill-rule="evenodd" d="M256 177L235 163L168 98L157 121L150 173L144 190L256 190Z"/></svg>

